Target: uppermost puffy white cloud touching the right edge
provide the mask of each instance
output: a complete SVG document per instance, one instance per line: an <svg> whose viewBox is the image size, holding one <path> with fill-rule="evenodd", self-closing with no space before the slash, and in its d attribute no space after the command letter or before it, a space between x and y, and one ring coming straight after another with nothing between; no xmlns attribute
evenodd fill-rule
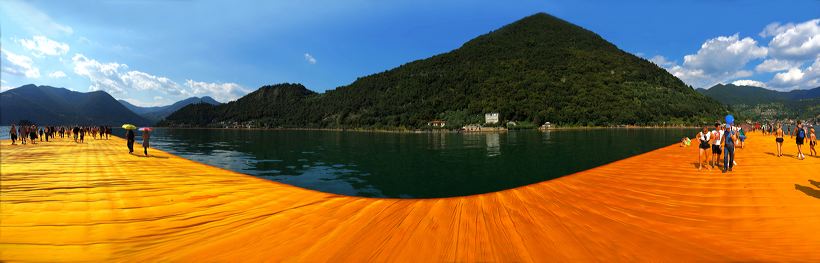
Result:
<svg viewBox="0 0 820 263"><path fill-rule="evenodd" d="M773 58L806 60L820 54L820 19L799 24L769 24L761 36L773 36L769 42L769 55Z"/></svg>

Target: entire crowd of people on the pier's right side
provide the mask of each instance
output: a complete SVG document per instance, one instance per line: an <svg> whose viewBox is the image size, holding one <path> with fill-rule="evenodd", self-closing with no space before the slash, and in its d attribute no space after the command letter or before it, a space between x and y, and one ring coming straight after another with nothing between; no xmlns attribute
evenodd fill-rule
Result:
<svg viewBox="0 0 820 263"><path fill-rule="evenodd" d="M803 153L803 145L808 142L809 154L817 156L817 135L813 125L807 125L802 121L796 121L794 125L792 122L785 122L785 126L780 122L766 122L755 123L754 125L734 125L732 120L727 116L726 123L716 122L713 129L703 127L696 135L698 142L698 170L704 167L712 169L715 166L722 168L721 170L731 172L732 168L737 165L735 161L735 147L743 148L746 142L746 131L761 132L764 135L774 135L777 153L775 156L783 156L783 143L785 136L788 135L794 139L797 145L797 159L803 160L806 155ZM691 144L691 139L683 138L681 146L688 146ZM721 158L722 155L722 158ZM704 165L706 164L706 165ZM721 165L722 164L722 165Z"/></svg>

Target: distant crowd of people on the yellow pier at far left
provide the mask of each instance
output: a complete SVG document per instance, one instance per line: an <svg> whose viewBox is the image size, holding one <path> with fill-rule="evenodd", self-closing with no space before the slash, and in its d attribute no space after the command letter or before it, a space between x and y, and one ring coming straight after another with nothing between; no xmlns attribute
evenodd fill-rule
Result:
<svg viewBox="0 0 820 263"><path fill-rule="evenodd" d="M74 136L74 142L76 143L83 143L85 142L85 135L90 134L92 138L97 139L97 135L99 134L100 139L108 139L111 136L111 127L109 126L43 126L38 127L34 124L27 124L27 125L20 125L17 126L12 124L9 129L9 137L11 138L11 144L17 144L17 140L20 140L20 144L32 143L36 144L37 140L48 142L49 139L53 140L59 136L60 138L71 137Z"/></svg>

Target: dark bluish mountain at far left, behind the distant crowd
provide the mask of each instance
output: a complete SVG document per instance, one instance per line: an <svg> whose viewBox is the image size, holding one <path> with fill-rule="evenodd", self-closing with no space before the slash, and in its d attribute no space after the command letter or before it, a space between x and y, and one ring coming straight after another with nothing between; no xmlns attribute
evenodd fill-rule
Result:
<svg viewBox="0 0 820 263"><path fill-rule="evenodd" d="M0 125L22 120L39 125L150 123L104 91L83 93L31 84L0 93Z"/></svg>

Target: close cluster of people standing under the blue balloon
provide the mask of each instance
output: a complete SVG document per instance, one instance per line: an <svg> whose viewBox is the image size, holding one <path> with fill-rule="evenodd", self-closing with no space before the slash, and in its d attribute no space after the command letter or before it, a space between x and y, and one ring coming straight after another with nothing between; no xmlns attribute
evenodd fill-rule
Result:
<svg viewBox="0 0 820 263"><path fill-rule="evenodd" d="M715 123L714 129L709 131L708 127L698 133L698 170L703 169L707 163L708 169L715 166L720 167L723 163L722 171L731 172L737 165L735 161L735 147L743 148L746 141L746 133L741 126L735 126L732 122L726 124ZM723 159L721 159L723 155Z"/></svg>

